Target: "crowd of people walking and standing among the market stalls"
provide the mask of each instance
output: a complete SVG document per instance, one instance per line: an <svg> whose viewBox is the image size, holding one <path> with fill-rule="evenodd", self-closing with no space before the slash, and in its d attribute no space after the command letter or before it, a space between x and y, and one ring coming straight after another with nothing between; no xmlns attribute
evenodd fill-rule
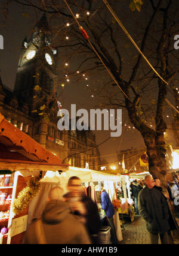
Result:
<svg viewBox="0 0 179 256"><path fill-rule="evenodd" d="M158 178L147 175L144 180L133 180L130 185L135 214L146 221L150 242L171 243L171 231L178 229L174 212L179 196L178 176L168 181L163 192ZM24 243L98 244L101 220L97 204L85 194L79 177L70 177L68 192L60 187L51 189L45 209L32 221L26 231ZM179 203L179 200L178 200ZM111 241L118 243L113 215L115 210L105 189L101 189L101 209L106 213Z"/></svg>

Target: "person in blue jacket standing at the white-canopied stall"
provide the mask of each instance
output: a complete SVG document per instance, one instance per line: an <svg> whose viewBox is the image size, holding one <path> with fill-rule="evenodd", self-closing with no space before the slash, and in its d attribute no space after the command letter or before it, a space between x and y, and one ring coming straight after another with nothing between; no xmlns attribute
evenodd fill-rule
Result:
<svg viewBox="0 0 179 256"><path fill-rule="evenodd" d="M118 238L116 235L116 228L113 220L113 215L115 214L115 209L113 207L112 201L109 198L109 194L107 194L106 190L103 188L101 190L101 208L106 213L107 223L111 228L111 239L113 244L118 243Z"/></svg>

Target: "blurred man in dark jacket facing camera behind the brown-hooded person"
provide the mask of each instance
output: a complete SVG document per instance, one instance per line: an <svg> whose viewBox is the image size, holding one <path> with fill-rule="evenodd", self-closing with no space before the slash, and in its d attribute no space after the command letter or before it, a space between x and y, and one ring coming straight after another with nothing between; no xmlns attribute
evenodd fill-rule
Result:
<svg viewBox="0 0 179 256"><path fill-rule="evenodd" d="M100 243L99 230L101 227L98 207L90 197L87 197L81 183L79 177L70 177L67 185L69 192L63 197L69 203L72 213L78 215L81 222L85 224L91 242L97 244Z"/></svg>

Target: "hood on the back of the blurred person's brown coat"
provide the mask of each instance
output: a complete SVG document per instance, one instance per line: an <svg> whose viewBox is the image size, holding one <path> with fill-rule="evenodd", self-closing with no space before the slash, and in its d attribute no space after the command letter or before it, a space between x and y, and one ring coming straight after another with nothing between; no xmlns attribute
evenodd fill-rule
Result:
<svg viewBox="0 0 179 256"><path fill-rule="evenodd" d="M67 218L70 213L69 204L61 200L51 200L42 212L42 221L48 224L57 224Z"/></svg>

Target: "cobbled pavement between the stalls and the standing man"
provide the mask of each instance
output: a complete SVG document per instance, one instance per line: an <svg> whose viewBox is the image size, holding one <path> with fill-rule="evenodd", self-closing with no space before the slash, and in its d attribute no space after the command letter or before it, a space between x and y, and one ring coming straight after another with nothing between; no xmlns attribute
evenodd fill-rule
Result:
<svg viewBox="0 0 179 256"><path fill-rule="evenodd" d="M122 236L123 240L119 244L150 244L146 222L140 215L135 215L133 222L125 222ZM174 243L179 244L179 234L177 236L172 234L172 237Z"/></svg>

